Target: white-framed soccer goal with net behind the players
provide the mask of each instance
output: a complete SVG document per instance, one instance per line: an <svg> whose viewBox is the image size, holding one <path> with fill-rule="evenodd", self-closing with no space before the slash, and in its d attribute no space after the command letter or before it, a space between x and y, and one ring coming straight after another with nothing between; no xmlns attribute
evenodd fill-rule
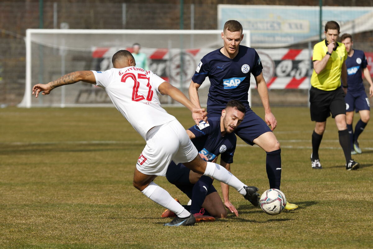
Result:
<svg viewBox="0 0 373 249"><path fill-rule="evenodd" d="M25 94L18 107L113 106L106 93L92 84L76 83L53 90L50 96L31 95L32 85L48 83L79 70L104 71L120 49L140 43L148 58L148 69L178 87L188 96L188 87L199 60L222 47L221 30L132 30L132 29L27 29ZM242 45L250 46L250 31ZM131 51L130 51L131 52ZM253 83L252 83L253 84ZM199 89L206 106L209 80ZM254 87L254 85L252 86ZM251 89L251 88L250 88ZM169 97L162 104L179 106ZM249 90L249 102L251 90Z"/></svg>

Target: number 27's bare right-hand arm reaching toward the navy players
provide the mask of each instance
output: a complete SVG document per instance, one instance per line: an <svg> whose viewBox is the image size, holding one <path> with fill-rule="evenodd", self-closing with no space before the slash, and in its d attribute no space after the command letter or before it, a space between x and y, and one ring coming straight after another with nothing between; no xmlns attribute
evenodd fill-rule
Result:
<svg viewBox="0 0 373 249"><path fill-rule="evenodd" d="M178 88L164 81L159 85L158 90L160 93L170 96L173 100L188 108L192 112L192 117L196 124L199 124L201 120L207 121L206 109L197 108Z"/></svg>

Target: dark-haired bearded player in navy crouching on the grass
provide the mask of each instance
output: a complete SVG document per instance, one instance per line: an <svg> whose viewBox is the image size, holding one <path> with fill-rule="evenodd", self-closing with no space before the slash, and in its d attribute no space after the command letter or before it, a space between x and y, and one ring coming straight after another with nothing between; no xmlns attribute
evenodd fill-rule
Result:
<svg viewBox="0 0 373 249"><path fill-rule="evenodd" d="M186 133L205 161L215 162L220 156L220 165L231 171L233 154L236 149L235 129L245 116L245 106L238 100L231 100L222 110L219 118L208 118L208 124L201 122L194 125ZM229 209L238 216L238 211L229 201L229 186L222 183L224 204L212 185L213 179L197 174L183 164L174 162L168 166L167 180L184 192L191 200L190 206L184 206L194 215L197 222L214 221L214 217L225 218ZM166 209L162 217L173 217L175 214Z"/></svg>

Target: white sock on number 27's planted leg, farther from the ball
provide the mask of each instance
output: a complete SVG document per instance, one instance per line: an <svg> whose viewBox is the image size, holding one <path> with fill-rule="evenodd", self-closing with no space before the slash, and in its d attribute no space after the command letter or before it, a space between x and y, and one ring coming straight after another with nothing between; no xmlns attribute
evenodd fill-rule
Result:
<svg viewBox="0 0 373 249"><path fill-rule="evenodd" d="M188 212L182 205L180 205L180 203L173 199L166 190L159 187L153 181L149 183L149 185L142 190L141 193L145 194L145 196L153 200L153 202L158 203L164 208L174 212L180 218L185 218L190 215L190 212Z"/></svg>

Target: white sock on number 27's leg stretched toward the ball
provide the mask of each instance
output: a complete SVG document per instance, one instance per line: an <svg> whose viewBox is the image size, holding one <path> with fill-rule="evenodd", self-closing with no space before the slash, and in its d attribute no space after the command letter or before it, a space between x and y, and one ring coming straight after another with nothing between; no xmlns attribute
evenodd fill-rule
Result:
<svg viewBox="0 0 373 249"><path fill-rule="evenodd" d="M228 184L229 186L233 187L237 190L240 194L245 195L246 190L244 189L245 185L242 181L238 180L231 172L226 170L223 166L219 164L215 164L213 162L207 162L206 170L204 175L212 177L222 183Z"/></svg>

